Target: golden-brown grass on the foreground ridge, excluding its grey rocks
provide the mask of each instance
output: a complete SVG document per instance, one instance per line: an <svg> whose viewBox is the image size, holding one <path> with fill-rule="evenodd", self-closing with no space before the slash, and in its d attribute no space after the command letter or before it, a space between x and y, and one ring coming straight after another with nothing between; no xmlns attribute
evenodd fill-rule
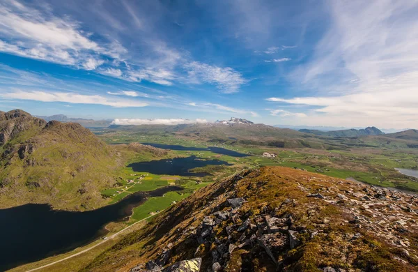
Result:
<svg viewBox="0 0 418 272"><path fill-rule="evenodd" d="M327 176L284 167L263 168L236 184L233 180L213 183L156 216L148 226L125 237L83 271L129 271L132 266L157 258L169 243L173 243L169 264L202 257L201 269L206 271L212 260L210 250L216 245L199 245L189 232L201 225L203 218L212 211L223 209L221 203L232 195L247 200L238 213L239 218L249 216L251 220L255 220L253 218L267 209L281 216L291 214L293 225L303 226L308 230L306 235L300 236L302 245L277 256L277 259L284 261L286 271L323 271L325 266L353 269L350 271L415 271L414 266L403 265L394 259L394 256L402 253L393 245L388 245L373 232L348 225L346 220L350 216L346 212L350 209L309 198L300 186L319 191L333 188L336 193L339 189L347 189L343 183ZM295 199L295 202L293 205L285 205L285 199ZM327 218L331 220L325 222ZM242 219L236 220L239 226ZM219 238L221 241L240 237L241 234L235 232L228 236L224 233L225 227L223 224L221 228L214 229L218 238L224 237ZM318 228L318 235L310 237L309 232ZM353 241L346 238L357 232L361 232L362 239ZM412 234L405 235L416 239ZM240 271L243 266L251 267L253 271L274 269L270 258L263 254L263 249L259 246L237 249L229 259L226 271Z"/></svg>

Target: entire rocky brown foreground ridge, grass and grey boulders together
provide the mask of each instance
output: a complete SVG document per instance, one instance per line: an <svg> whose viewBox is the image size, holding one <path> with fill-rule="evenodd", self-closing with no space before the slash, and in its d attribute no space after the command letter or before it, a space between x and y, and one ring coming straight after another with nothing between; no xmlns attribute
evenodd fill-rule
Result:
<svg viewBox="0 0 418 272"><path fill-rule="evenodd" d="M83 271L418 271L417 211L404 192L263 167L198 190Z"/></svg>

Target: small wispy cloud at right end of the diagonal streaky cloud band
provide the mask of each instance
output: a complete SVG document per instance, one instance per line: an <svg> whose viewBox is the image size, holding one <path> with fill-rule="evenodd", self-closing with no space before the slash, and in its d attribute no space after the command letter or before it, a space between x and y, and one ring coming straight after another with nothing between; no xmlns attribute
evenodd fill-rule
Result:
<svg viewBox="0 0 418 272"><path fill-rule="evenodd" d="M241 73L229 67L221 68L193 61L187 63L185 68L190 78L215 84L222 93L236 93L240 86L248 82Z"/></svg>

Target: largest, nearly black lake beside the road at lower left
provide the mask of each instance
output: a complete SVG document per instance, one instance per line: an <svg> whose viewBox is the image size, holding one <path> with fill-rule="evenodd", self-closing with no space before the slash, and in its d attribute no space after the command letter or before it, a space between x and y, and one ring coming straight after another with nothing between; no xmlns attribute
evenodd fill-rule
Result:
<svg viewBox="0 0 418 272"><path fill-rule="evenodd" d="M86 245L107 233L104 225L132 215L147 196L183 190L167 186L136 192L116 204L84 212L54 211L47 204L0 209L0 271Z"/></svg>

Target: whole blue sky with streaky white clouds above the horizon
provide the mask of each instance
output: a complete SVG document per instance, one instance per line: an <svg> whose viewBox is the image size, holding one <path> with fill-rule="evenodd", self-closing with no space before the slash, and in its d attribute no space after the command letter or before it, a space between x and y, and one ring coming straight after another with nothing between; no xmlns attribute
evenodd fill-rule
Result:
<svg viewBox="0 0 418 272"><path fill-rule="evenodd" d="M0 109L418 128L417 14L415 0L3 0Z"/></svg>

